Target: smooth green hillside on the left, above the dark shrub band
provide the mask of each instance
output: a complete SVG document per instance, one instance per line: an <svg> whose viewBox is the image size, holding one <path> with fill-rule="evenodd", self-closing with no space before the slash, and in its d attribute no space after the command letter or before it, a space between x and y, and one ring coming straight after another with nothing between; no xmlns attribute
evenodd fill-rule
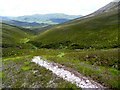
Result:
<svg viewBox="0 0 120 90"><path fill-rule="evenodd" d="M23 43L30 35L27 29L2 23L3 44Z"/></svg>

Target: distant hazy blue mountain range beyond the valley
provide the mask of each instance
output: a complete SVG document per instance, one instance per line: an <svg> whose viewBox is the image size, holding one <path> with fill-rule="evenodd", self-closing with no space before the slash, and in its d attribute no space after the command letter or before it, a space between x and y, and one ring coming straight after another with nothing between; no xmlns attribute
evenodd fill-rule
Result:
<svg viewBox="0 0 120 90"><path fill-rule="evenodd" d="M7 24L12 24L22 27L45 27L48 25L60 24L75 18L79 18L81 15L66 15L61 13L55 14L35 14L19 17L5 17L0 16L2 21Z"/></svg>

